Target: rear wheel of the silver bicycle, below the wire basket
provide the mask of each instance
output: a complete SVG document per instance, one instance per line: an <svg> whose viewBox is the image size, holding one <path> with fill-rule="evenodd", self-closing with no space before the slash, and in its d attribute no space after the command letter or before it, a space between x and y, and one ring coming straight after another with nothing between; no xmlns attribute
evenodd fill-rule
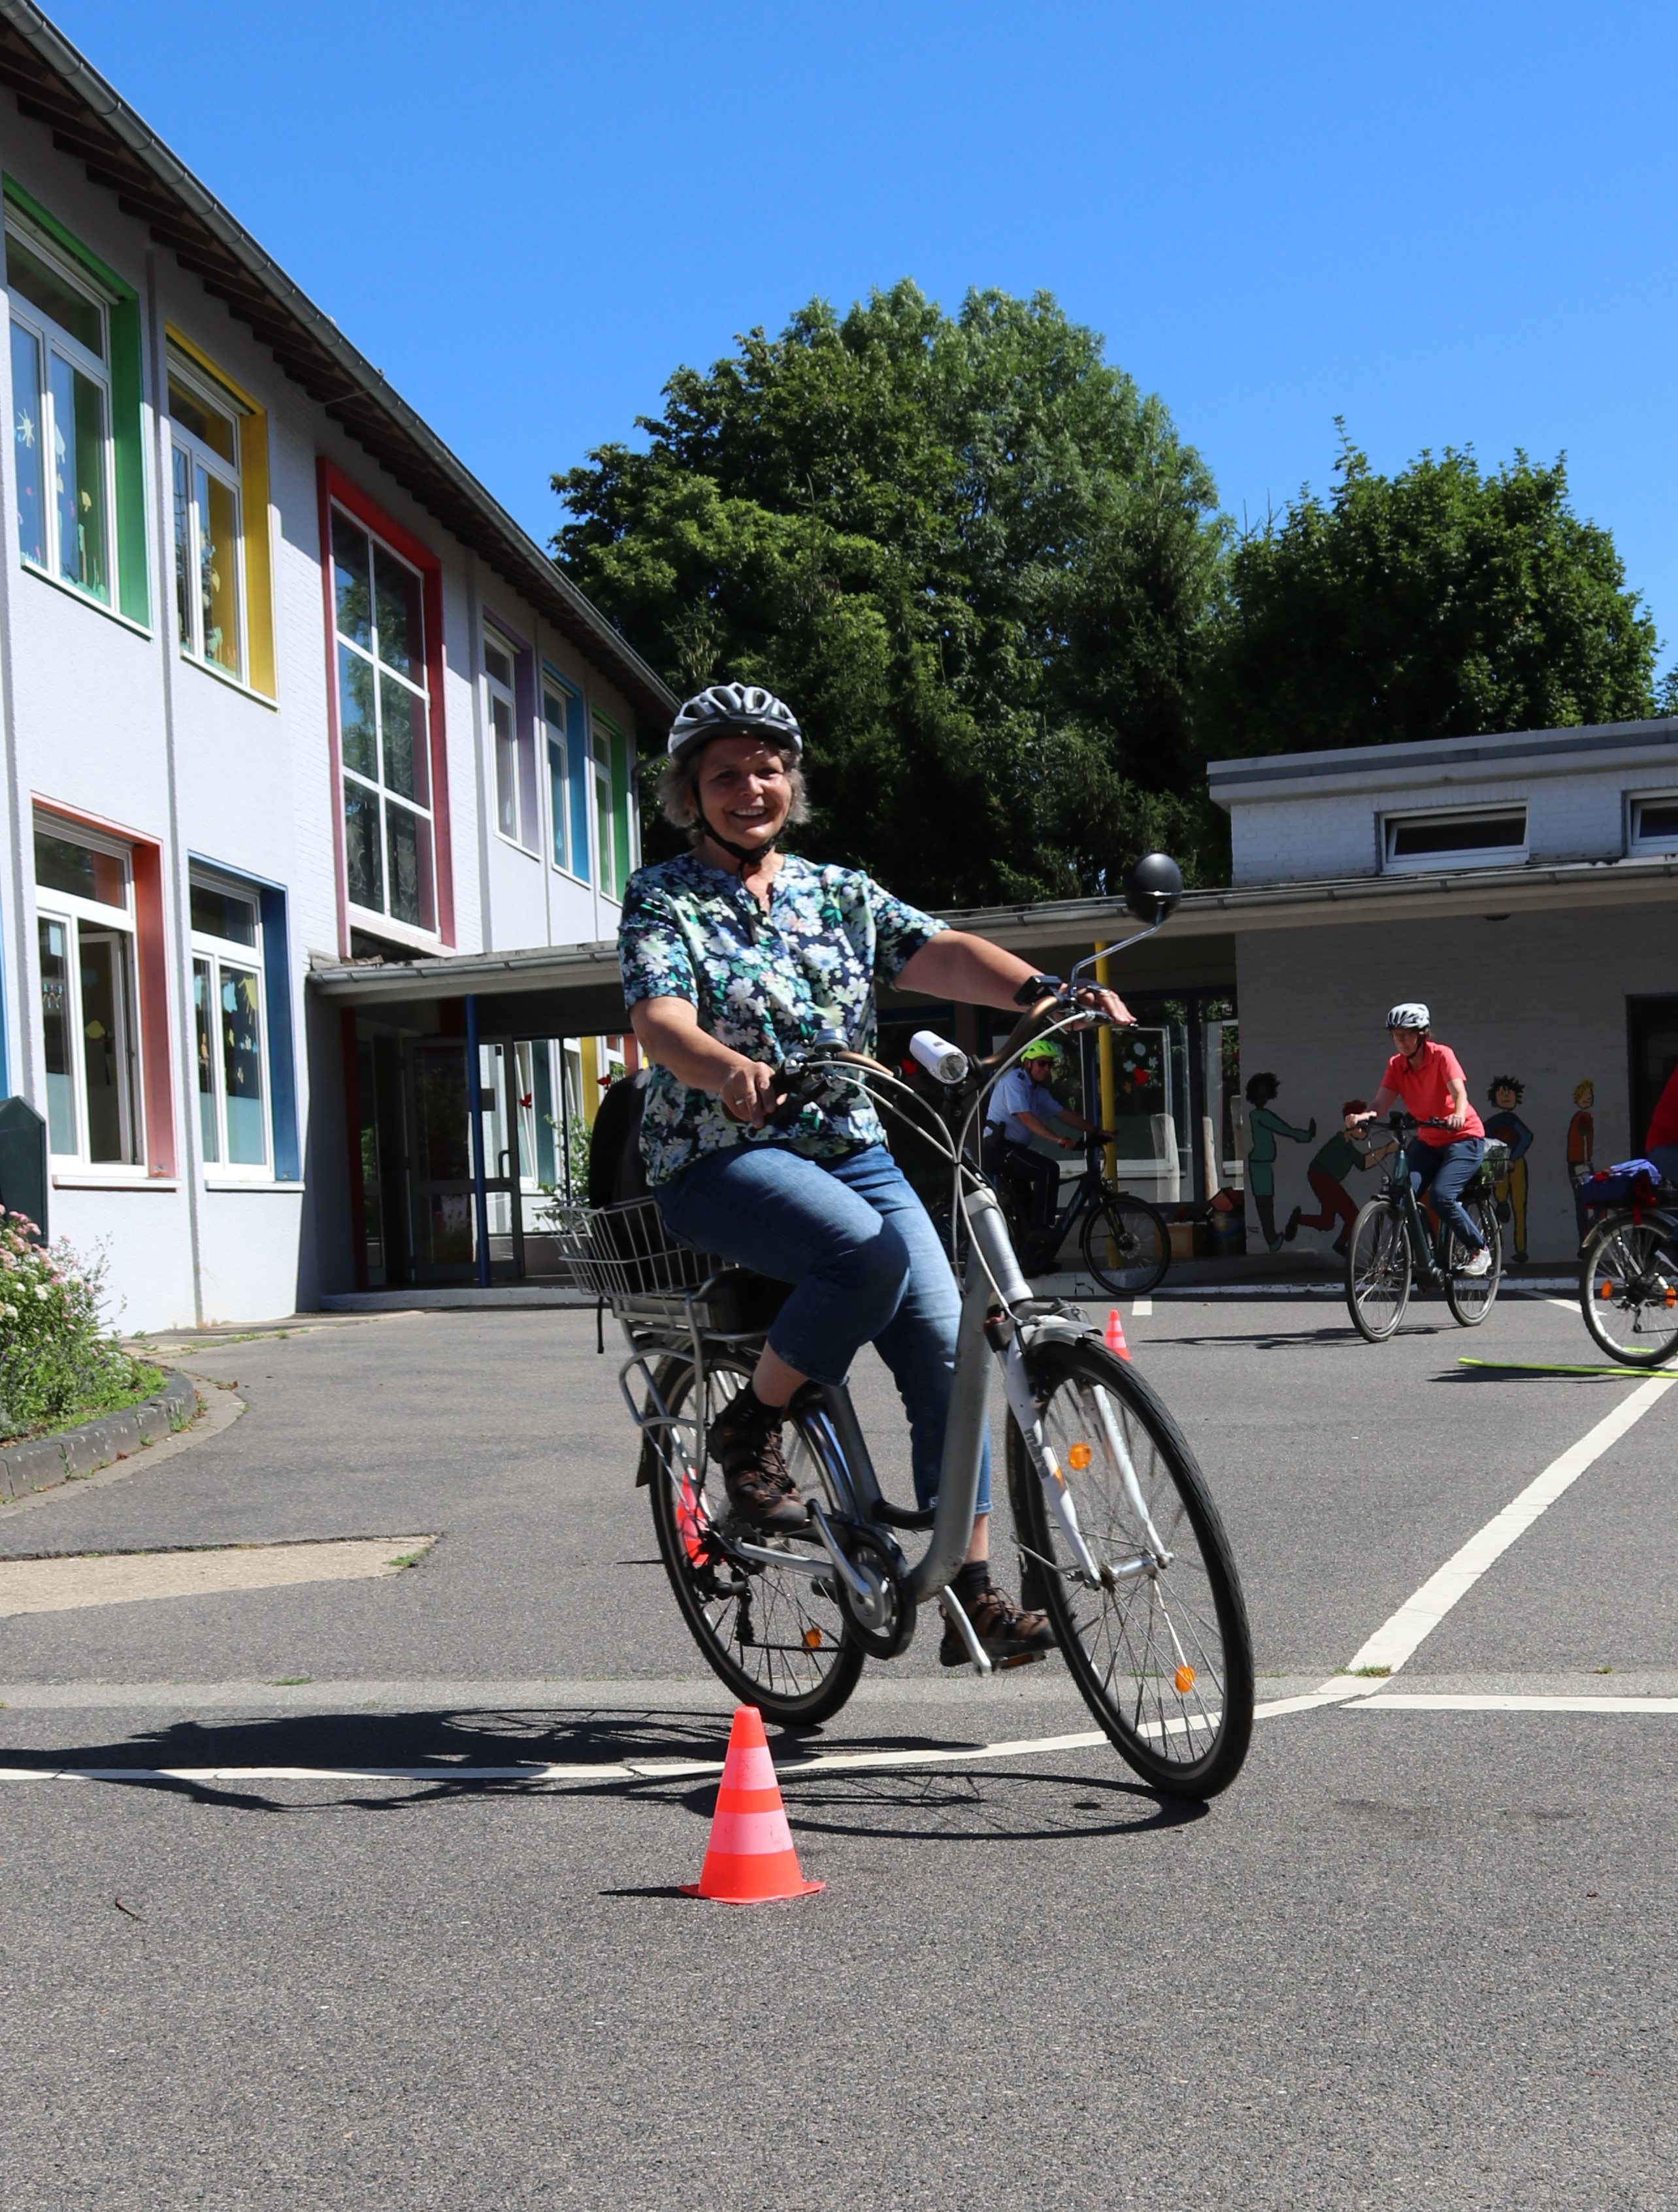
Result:
<svg viewBox="0 0 1678 2212"><path fill-rule="evenodd" d="M746 1374L750 1367L744 1360L708 1363L708 1402L700 1407L700 1420L708 1425ZM832 1719L857 1688L863 1652L837 1599L821 1595L806 1575L775 1575L768 1566L742 1568L708 1555L706 1524L713 1517L726 1524L728 1504L715 1462L706 1467L704 1484L695 1480L691 1447L700 1422L686 1413L693 1360L664 1360L653 1380L671 1416L688 1422L642 1431L642 1478L653 1493L657 1553L688 1635L711 1672L742 1703L757 1705L766 1719L790 1728L815 1728L817 1721ZM786 1444L788 1467L804 1495L826 1493L832 1502L821 1480L821 1455L797 1416L788 1418ZM753 1535L753 1542L773 1540Z"/></svg>

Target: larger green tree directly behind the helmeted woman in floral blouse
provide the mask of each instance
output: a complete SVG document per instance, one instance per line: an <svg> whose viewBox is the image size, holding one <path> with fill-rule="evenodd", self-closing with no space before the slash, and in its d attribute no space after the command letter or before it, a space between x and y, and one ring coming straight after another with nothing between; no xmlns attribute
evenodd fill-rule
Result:
<svg viewBox="0 0 1678 2212"><path fill-rule="evenodd" d="M1224 524L1054 299L812 301L640 429L553 478L556 553L675 690L795 706L810 852L936 905L1094 891L1162 841L1193 865Z"/></svg>

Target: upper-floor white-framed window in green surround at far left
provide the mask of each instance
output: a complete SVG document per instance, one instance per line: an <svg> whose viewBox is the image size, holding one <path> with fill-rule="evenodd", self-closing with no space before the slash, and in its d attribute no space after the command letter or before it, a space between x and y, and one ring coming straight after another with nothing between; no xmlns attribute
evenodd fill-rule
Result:
<svg viewBox="0 0 1678 2212"><path fill-rule="evenodd" d="M7 226L11 414L22 557L111 606L111 338L106 303Z"/></svg>

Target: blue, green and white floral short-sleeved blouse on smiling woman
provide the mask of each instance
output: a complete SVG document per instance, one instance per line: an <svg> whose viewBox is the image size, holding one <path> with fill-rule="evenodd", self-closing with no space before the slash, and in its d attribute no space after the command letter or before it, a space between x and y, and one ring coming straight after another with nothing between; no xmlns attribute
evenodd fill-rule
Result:
<svg viewBox="0 0 1678 2212"><path fill-rule="evenodd" d="M874 1048L874 982L894 982L945 925L881 891L861 869L815 867L786 854L770 883L768 914L739 876L695 854L642 867L624 889L618 962L624 1002L686 998L700 1029L722 1044L779 1066L837 1029L863 1053ZM748 1130L708 1091L688 1091L653 1068L642 1110L646 1181L657 1188L735 1144L784 1144L808 1159L841 1159L885 1130L870 1102L839 1091L808 1104L790 1128Z"/></svg>

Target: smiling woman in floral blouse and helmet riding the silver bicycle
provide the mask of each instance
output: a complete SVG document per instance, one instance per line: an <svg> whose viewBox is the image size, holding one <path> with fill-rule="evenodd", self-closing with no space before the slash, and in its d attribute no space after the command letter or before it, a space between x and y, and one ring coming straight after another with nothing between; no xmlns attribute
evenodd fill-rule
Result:
<svg viewBox="0 0 1678 2212"><path fill-rule="evenodd" d="M693 852L629 878L618 931L624 1002L653 1071L642 1161L660 1214L684 1243L793 1285L750 1383L706 1440L733 1511L781 1535L808 1526L781 1453L788 1400L806 1380L841 1383L866 1343L897 1380L914 1495L932 1504L961 1301L868 1099L835 1091L781 1126L779 1064L824 1031L870 1051L877 982L1003 1009L1043 995L1025 960L903 905L861 869L779 852L806 812L801 754L790 708L757 686L713 684L688 699L660 801ZM1111 991L1089 989L1083 1004L1131 1020ZM954 1590L990 1657L1043 1650L1047 1617L1021 1613L987 1559L990 1462ZM954 1626L939 1657L967 1661Z"/></svg>

